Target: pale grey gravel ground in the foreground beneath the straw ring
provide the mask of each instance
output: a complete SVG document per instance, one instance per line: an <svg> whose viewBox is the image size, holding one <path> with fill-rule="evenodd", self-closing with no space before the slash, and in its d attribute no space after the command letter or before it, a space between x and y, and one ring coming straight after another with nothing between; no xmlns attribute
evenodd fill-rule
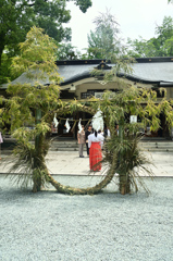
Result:
<svg viewBox="0 0 173 261"><path fill-rule="evenodd" d="M55 177L92 185L99 177ZM2 261L173 261L173 178L146 178L152 191L97 196L21 191L0 175Z"/></svg>

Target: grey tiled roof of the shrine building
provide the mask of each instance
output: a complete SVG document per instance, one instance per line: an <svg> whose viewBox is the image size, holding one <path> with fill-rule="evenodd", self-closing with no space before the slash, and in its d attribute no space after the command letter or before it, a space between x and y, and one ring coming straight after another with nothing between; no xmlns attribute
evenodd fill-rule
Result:
<svg viewBox="0 0 173 261"><path fill-rule="evenodd" d="M63 77L62 85L75 83L83 78L91 77L90 72L99 65L102 60L76 60L76 61L58 61L58 72ZM113 66L113 64L108 63ZM132 64L133 73L125 75L127 78L152 84L158 86L173 86L173 58L153 58L153 59L137 59L137 62ZM121 75L124 75L123 72ZM32 79L26 78L26 74L22 74L18 78L12 82L15 83L30 83ZM48 77L41 80L41 84L49 84ZM7 85L3 85L5 88Z"/></svg>

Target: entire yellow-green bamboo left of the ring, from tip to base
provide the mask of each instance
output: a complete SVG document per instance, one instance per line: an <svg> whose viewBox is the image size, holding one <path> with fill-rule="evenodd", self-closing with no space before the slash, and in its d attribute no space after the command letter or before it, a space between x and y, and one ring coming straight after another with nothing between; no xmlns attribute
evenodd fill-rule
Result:
<svg viewBox="0 0 173 261"><path fill-rule="evenodd" d="M10 98L1 97L4 104L1 124L11 125L11 133L18 142L15 149L18 161L14 169L23 166L24 173L33 178L34 191L40 190L47 179L44 156L48 145L45 136L50 125L45 116L58 102L61 79L54 64L55 49L57 46L48 35L42 34L42 29L33 27L26 40L20 44L21 54L13 59L12 64L14 71L26 73L30 84L9 85L7 92ZM45 78L51 82L49 86L42 84ZM27 126L34 128L29 130ZM30 140L35 142L30 144Z"/></svg>

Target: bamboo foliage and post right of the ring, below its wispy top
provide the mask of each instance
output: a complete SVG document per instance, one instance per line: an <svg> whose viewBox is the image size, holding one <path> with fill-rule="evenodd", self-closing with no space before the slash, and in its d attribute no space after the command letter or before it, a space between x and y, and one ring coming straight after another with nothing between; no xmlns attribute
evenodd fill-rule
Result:
<svg viewBox="0 0 173 261"><path fill-rule="evenodd" d="M102 111L111 132L111 138L106 142L104 162L109 162L108 169L111 166L111 171L114 169L114 173L119 173L120 192L128 194L133 187L137 191L138 184L147 190L139 171L143 175L152 173L145 166L149 161L138 146L140 129L149 125L151 130L157 130L160 127L160 113L164 113L166 124L173 126L173 101L163 98L158 103L156 91L128 87L122 80L119 91L106 91L102 99L97 100L92 107ZM137 115L140 121L132 124L131 115ZM114 129L115 123L119 124L119 135Z"/></svg>

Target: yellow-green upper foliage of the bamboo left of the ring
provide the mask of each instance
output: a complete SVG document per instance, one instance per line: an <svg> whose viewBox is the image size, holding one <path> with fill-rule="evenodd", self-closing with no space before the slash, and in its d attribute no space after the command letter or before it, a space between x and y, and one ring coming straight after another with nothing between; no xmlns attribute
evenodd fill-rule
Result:
<svg viewBox="0 0 173 261"><path fill-rule="evenodd" d="M32 82L10 84L7 89L11 99L5 100L4 119L11 123L12 132L26 124L35 124L35 111L40 109L45 115L57 102L61 77L54 64L55 49L51 38L35 26L28 32L26 40L20 44L21 55L13 59L12 67L15 72L24 72ZM45 78L49 78L49 86L42 84ZM17 138L16 133L15 136Z"/></svg>

